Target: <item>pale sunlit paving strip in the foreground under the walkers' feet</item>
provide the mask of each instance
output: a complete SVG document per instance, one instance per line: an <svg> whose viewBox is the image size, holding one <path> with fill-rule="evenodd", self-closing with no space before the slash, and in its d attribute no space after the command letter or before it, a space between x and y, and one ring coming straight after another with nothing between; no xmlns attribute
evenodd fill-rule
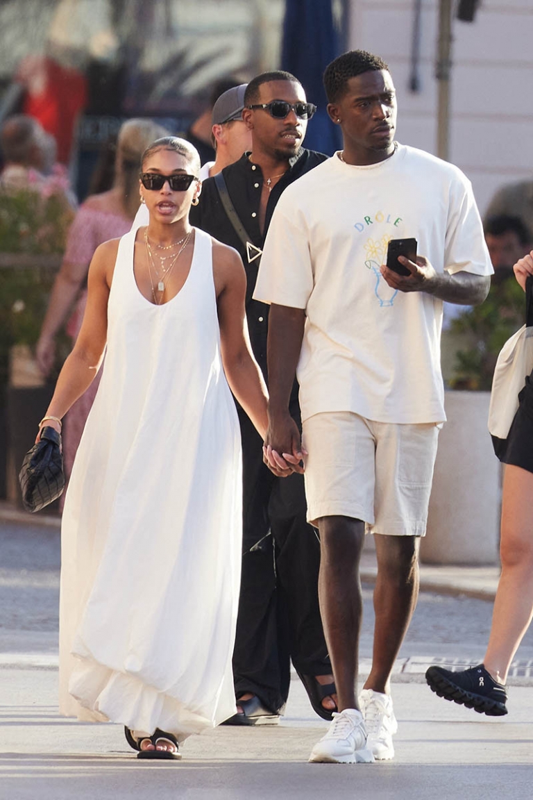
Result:
<svg viewBox="0 0 533 800"><path fill-rule="evenodd" d="M121 726L60 718L54 670L0 670L1 800L529 800L533 692L513 687L510 714L488 718L395 684L396 758L308 764L326 723L292 681L280 726L222 726L189 738L181 762L137 761Z"/></svg>

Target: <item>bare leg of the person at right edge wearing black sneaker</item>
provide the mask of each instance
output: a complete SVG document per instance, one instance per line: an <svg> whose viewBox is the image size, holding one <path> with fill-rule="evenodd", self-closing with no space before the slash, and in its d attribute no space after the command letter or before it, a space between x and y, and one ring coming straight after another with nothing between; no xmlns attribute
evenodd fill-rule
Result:
<svg viewBox="0 0 533 800"><path fill-rule="evenodd" d="M503 477L500 556L502 574L492 612L485 669L505 683L533 616L533 473L507 465Z"/></svg>

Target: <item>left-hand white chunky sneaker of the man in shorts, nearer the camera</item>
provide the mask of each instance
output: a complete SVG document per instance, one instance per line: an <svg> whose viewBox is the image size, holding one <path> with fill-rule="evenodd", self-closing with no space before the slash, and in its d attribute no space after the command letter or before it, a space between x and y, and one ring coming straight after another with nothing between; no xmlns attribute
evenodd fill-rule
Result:
<svg viewBox="0 0 533 800"><path fill-rule="evenodd" d="M353 708L340 714L333 712L328 733L316 742L309 756L310 762L330 764L371 764L374 761L367 748L367 732L363 714Z"/></svg>

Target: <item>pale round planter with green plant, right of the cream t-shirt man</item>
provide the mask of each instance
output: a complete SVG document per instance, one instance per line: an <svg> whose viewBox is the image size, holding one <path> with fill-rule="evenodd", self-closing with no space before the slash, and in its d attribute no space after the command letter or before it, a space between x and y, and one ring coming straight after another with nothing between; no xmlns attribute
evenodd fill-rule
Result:
<svg viewBox="0 0 533 800"><path fill-rule="evenodd" d="M499 350L523 320L524 295L515 278L493 278L487 299L463 310L444 334L451 364L447 423L439 437L428 536L420 547L424 562L498 560L500 465L487 430L488 406Z"/></svg>

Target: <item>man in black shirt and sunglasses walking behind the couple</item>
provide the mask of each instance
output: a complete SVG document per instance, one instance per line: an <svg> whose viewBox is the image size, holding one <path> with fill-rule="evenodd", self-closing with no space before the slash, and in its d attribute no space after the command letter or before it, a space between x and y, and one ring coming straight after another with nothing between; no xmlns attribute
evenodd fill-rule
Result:
<svg viewBox="0 0 533 800"><path fill-rule="evenodd" d="M190 221L241 254L248 277L250 339L266 378L268 306L253 300L252 294L268 224L285 187L327 157L301 147L314 106L306 101L304 89L293 75L278 71L253 78L244 102L243 119L252 132L252 152L221 173L241 234L230 219L232 211L223 205L217 178L202 184L200 202L191 209ZM291 408L296 416L297 392L295 384ZM288 696L291 658L313 708L331 719L336 695L318 605L320 544L305 520L303 478L272 475L263 463L261 438L240 409L239 418L244 530L233 652L238 713L229 722L278 721Z"/></svg>

